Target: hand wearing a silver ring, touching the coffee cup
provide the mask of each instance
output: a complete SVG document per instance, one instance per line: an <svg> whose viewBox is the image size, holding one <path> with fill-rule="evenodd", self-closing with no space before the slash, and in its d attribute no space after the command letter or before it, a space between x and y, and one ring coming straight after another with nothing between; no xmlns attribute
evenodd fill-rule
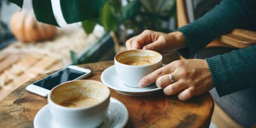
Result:
<svg viewBox="0 0 256 128"><path fill-rule="evenodd" d="M171 83L168 75L174 78ZM156 81L156 86L164 88L165 95L178 94L180 100L202 95L213 88L212 77L206 60L177 60L143 77L139 87L144 88Z"/></svg>

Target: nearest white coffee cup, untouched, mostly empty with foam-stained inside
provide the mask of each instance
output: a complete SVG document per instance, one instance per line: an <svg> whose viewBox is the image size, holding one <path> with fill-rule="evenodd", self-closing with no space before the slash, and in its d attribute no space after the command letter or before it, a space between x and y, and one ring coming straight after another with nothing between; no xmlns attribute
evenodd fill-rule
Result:
<svg viewBox="0 0 256 128"><path fill-rule="evenodd" d="M82 97L86 99L83 100L85 102L74 102L77 101L76 99L83 99ZM98 102L86 102L95 99ZM107 114L109 99L109 88L101 82L92 80L65 82L53 88L48 95L51 115L56 123L63 128L95 128L99 126ZM68 105L79 107L63 106L66 102L71 102ZM81 107L83 105L84 107Z"/></svg>

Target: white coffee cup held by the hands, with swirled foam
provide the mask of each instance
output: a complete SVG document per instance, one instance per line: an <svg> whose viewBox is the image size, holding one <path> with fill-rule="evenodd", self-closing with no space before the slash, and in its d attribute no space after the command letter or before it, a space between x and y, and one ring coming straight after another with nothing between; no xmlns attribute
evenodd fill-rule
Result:
<svg viewBox="0 0 256 128"><path fill-rule="evenodd" d="M147 56L154 56L154 59L151 64L139 66L128 65L123 62L125 59L132 60L134 56L142 56L142 58L146 58ZM138 84L140 79L150 74L154 70L162 67L162 58L163 57L160 53L151 50L135 49L123 51L118 53L114 58L117 76L126 86L139 88Z"/></svg>

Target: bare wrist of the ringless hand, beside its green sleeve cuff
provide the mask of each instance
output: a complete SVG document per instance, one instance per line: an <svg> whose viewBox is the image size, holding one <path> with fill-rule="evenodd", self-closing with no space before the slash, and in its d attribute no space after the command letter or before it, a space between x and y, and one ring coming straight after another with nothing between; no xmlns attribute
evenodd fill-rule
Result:
<svg viewBox="0 0 256 128"><path fill-rule="evenodd" d="M186 47L186 39L182 32L176 31L169 33L169 35L172 35L175 39L175 44L177 49L181 49L183 47Z"/></svg>

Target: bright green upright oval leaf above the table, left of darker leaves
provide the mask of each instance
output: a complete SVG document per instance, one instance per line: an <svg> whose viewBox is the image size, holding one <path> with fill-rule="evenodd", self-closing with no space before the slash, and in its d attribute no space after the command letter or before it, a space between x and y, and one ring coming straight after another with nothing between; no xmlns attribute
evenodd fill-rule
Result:
<svg viewBox="0 0 256 128"><path fill-rule="evenodd" d="M117 29L117 18L114 8L107 2L100 12L100 23L105 30L116 30Z"/></svg>

